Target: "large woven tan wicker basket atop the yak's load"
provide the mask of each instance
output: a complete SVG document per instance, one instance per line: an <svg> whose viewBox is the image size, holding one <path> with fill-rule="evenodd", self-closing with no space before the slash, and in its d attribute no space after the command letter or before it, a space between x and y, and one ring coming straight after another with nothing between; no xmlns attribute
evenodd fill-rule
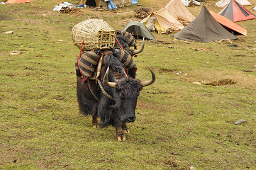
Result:
<svg viewBox="0 0 256 170"><path fill-rule="evenodd" d="M115 31L101 19L88 19L77 23L72 29L74 45L82 50L107 50L115 45Z"/></svg>

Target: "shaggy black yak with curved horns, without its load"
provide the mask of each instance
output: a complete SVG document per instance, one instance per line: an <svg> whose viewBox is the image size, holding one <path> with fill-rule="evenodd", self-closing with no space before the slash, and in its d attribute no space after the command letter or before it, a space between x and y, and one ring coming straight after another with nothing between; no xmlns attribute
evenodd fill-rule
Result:
<svg viewBox="0 0 256 170"><path fill-rule="evenodd" d="M152 79L140 81L129 77L119 56L112 50L106 50L98 79L83 81L77 77L77 100L79 110L84 115L92 115L94 128L113 125L119 141L126 140L129 133L126 123L135 121L137 99L143 86L155 81L155 74L150 69ZM98 118L100 121L98 121Z"/></svg>

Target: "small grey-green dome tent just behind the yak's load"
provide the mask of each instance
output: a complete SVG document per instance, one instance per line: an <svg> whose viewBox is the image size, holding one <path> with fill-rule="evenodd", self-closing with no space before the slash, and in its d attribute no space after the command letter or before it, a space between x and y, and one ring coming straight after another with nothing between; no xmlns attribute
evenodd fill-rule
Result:
<svg viewBox="0 0 256 170"><path fill-rule="evenodd" d="M150 40L155 40L154 35L148 30L144 23L138 21L130 21L123 30L131 33L133 36L138 36L139 38L148 38Z"/></svg>

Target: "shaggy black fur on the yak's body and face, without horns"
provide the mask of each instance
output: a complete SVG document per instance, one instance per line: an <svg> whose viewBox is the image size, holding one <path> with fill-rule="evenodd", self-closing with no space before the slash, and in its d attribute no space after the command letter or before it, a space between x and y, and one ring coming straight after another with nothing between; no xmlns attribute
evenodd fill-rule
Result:
<svg viewBox="0 0 256 170"><path fill-rule="evenodd" d="M99 98L99 102L96 101L89 90L87 81L82 83L82 78L77 77L77 100L79 109L84 115L98 115L101 128L108 125L120 128L122 127L122 123L135 120L137 98L143 86L141 86L139 80L126 77L123 72L123 64L119 57L113 55L111 50L104 51L102 55L104 55L104 62L100 74L101 84L103 84L102 79L106 68L110 67L108 81L116 81L117 88L113 89L104 86L104 89L108 94L113 96L114 100L111 100L102 93L96 81L90 80L91 90L96 94L97 98ZM134 120L128 120L128 118L134 118Z"/></svg>

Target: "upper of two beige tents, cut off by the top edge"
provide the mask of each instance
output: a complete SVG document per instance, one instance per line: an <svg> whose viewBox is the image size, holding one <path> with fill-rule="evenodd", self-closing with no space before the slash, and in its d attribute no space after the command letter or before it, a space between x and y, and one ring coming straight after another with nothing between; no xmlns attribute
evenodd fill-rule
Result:
<svg viewBox="0 0 256 170"><path fill-rule="evenodd" d="M184 6L184 4L182 4L181 0L171 0L167 4L167 6L165 6L165 8L172 16L174 16L174 18L176 18L179 21L191 22L195 18L189 12L189 10L187 10L187 8Z"/></svg>

